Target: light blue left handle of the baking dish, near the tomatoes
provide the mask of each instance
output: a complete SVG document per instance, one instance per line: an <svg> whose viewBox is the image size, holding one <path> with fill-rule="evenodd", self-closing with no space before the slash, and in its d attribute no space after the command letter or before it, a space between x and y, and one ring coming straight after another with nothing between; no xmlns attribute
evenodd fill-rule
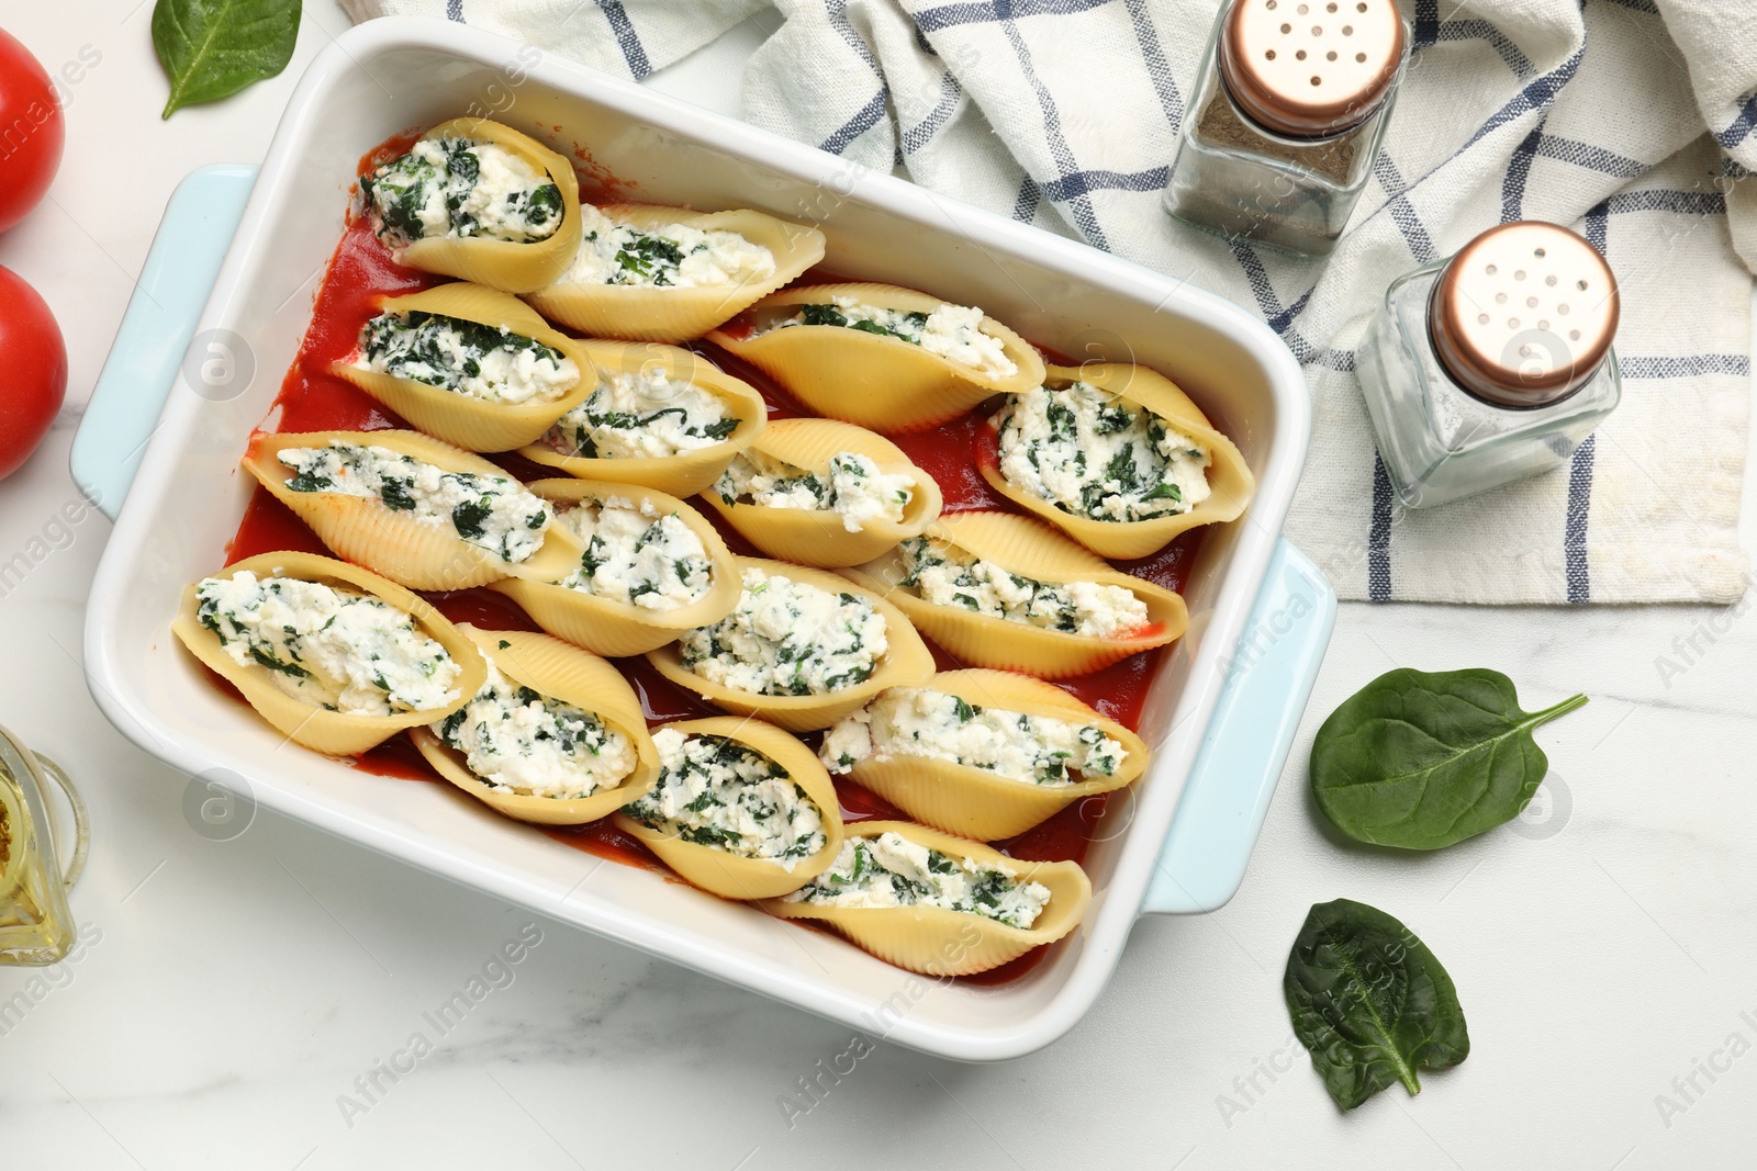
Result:
<svg viewBox="0 0 1757 1171"><path fill-rule="evenodd" d="M69 458L74 483L111 520L121 511L165 409L257 170L246 163L200 167L184 176L165 205Z"/></svg>

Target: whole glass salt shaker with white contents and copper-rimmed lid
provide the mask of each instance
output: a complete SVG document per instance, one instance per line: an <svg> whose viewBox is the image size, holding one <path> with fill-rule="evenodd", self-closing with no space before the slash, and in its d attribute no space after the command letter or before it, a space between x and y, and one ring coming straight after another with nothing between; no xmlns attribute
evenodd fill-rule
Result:
<svg viewBox="0 0 1757 1171"><path fill-rule="evenodd" d="M1599 251L1504 223L1395 281L1356 353L1379 456L1407 507L1567 463L1622 397L1622 304Z"/></svg>

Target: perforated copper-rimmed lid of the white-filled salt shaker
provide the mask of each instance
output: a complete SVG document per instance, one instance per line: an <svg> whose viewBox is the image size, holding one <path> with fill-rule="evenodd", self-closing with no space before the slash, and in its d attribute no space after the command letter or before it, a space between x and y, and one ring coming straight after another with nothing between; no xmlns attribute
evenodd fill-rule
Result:
<svg viewBox="0 0 1757 1171"><path fill-rule="evenodd" d="M1428 334L1446 372L1478 399L1541 407L1599 372L1620 316L1599 249L1527 219L1490 228L1446 263Z"/></svg>

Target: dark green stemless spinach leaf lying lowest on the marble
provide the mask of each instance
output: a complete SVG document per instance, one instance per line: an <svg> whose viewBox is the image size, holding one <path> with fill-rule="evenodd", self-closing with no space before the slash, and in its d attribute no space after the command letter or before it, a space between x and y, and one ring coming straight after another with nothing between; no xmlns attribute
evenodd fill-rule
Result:
<svg viewBox="0 0 1757 1171"><path fill-rule="evenodd" d="M1281 980L1293 1034L1342 1110L1418 1069L1450 1069L1471 1055L1451 976L1414 932L1365 902L1318 902L1305 916Z"/></svg>

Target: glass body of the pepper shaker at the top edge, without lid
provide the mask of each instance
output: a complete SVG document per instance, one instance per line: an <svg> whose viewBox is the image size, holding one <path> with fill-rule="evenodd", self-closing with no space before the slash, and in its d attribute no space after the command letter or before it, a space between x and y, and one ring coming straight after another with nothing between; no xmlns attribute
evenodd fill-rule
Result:
<svg viewBox="0 0 1757 1171"><path fill-rule="evenodd" d="M1291 11L1295 5L1288 0L1283 7ZM1321 11L1335 5L1300 7ZM1209 35L1165 207L1186 223L1223 235L1249 237L1304 256L1328 256L1372 177L1407 47L1399 47L1395 74L1372 98L1363 119L1335 133L1293 135L1265 126L1240 109L1228 90L1221 67L1228 14L1230 5ZM1400 44L1407 46L1407 37Z"/></svg>

